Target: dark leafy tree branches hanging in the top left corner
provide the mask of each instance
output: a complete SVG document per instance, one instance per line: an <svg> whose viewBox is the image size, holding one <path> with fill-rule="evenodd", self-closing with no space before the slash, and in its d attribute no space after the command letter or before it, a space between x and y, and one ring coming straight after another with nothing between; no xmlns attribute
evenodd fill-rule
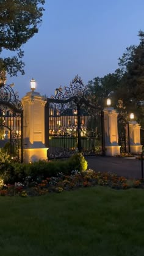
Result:
<svg viewBox="0 0 144 256"><path fill-rule="evenodd" d="M3 50L15 55L0 58L0 70L9 75L24 74L24 52L21 46L38 32L45 0L1 0L0 1L0 54Z"/></svg>

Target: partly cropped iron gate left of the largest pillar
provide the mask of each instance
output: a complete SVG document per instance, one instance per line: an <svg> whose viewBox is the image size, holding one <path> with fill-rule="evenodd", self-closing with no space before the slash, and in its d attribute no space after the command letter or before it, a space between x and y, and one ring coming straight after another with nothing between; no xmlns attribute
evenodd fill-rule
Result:
<svg viewBox="0 0 144 256"><path fill-rule="evenodd" d="M12 85L0 84L0 148L23 162L23 106Z"/></svg>

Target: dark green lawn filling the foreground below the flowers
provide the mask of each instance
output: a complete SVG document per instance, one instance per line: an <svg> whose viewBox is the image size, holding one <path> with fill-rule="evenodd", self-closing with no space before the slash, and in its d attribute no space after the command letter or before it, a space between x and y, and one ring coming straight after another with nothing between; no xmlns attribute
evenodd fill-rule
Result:
<svg viewBox="0 0 144 256"><path fill-rule="evenodd" d="M0 197L2 256L143 256L142 189Z"/></svg>

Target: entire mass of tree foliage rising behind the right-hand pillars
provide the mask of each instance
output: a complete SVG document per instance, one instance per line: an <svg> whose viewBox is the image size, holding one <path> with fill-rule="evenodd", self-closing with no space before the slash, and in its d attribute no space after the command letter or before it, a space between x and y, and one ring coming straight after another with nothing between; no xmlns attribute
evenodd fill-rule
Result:
<svg viewBox="0 0 144 256"><path fill-rule="evenodd" d="M142 123L144 107L140 102L144 100L144 32L139 31L138 36L139 45L126 48L122 57L118 59L119 68L114 73L88 81L88 88L102 107L104 99L109 96L113 107L116 108L118 100L123 100L127 112L134 112Z"/></svg>

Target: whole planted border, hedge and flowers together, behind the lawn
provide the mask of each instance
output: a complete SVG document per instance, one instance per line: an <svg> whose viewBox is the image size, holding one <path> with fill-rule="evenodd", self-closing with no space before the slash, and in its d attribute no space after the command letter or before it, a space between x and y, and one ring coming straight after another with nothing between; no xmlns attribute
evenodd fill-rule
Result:
<svg viewBox="0 0 144 256"><path fill-rule="evenodd" d="M67 160L39 161L32 164L5 162L0 170L0 195L21 197L62 192L79 187L108 186L113 189L144 188L142 179L126 179L110 172L87 170L81 153Z"/></svg>

